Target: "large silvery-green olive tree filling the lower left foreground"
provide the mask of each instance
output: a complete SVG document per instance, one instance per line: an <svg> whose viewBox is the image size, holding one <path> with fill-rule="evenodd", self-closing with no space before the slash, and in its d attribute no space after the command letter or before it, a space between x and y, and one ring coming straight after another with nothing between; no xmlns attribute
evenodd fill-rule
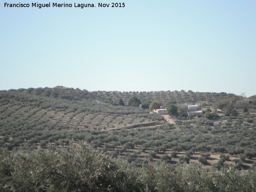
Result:
<svg viewBox="0 0 256 192"><path fill-rule="evenodd" d="M2 150L0 191L140 191L138 171L84 144L59 152Z"/></svg>

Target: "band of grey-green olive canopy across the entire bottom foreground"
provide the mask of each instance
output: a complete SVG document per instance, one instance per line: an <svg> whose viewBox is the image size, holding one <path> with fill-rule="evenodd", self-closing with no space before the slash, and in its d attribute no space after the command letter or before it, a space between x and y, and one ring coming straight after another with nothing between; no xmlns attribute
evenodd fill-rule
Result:
<svg viewBox="0 0 256 192"><path fill-rule="evenodd" d="M84 144L67 149L0 150L0 191L255 191L256 171L164 162L137 168Z"/></svg>

